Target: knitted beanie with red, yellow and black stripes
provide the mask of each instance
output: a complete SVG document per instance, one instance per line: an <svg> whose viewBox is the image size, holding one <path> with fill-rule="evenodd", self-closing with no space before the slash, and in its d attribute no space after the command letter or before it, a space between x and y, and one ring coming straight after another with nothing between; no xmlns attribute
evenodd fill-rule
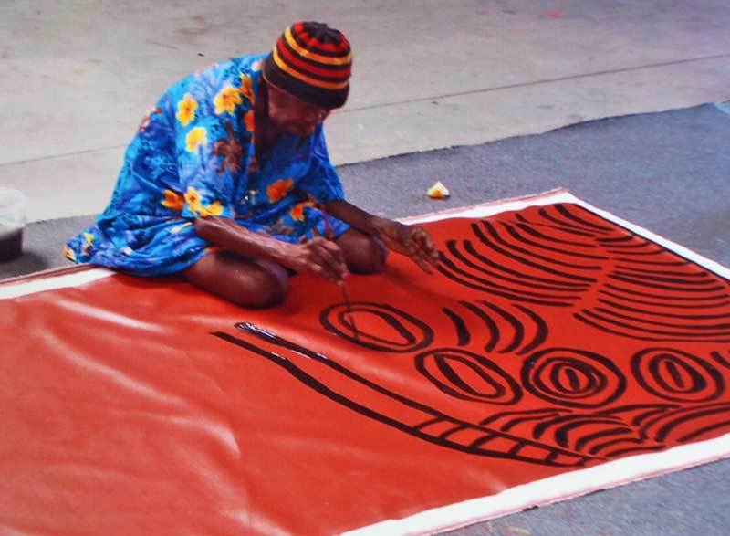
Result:
<svg viewBox="0 0 730 536"><path fill-rule="evenodd" d="M318 22L287 27L264 63L264 79L309 104L339 108L348 99L352 52L342 32Z"/></svg>

